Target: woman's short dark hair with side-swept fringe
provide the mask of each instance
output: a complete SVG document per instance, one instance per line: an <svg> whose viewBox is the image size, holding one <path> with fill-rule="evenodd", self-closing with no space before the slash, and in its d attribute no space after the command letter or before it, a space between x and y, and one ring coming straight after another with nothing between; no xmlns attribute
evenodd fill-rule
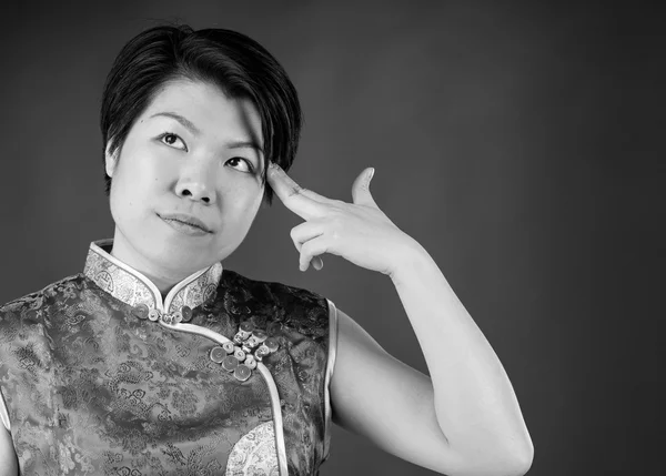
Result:
<svg viewBox="0 0 666 476"><path fill-rule="evenodd" d="M296 89L278 60L251 38L224 29L160 26L132 38L107 77L100 126L103 145L122 148L134 121L169 81L205 81L226 95L248 99L262 123L264 173L270 161L289 170L299 146L303 115ZM104 173L105 174L105 173ZM105 192L111 178L105 174ZM273 190L266 184L265 199Z"/></svg>

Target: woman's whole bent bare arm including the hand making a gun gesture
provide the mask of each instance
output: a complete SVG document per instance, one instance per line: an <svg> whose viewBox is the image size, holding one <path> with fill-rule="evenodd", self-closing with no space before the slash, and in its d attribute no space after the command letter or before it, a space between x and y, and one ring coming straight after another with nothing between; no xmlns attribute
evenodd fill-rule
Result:
<svg viewBox="0 0 666 476"><path fill-rule="evenodd" d="M302 189L276 165L268 174L305 220L291 232L301 270L321 269L320 256L331 253L391 276L430 369L431 378L391 357L341 313L335 419L452 476L526 473L533 445L506 372L431 256L379 209L372 172L356 178L353 203Z"/></svg>

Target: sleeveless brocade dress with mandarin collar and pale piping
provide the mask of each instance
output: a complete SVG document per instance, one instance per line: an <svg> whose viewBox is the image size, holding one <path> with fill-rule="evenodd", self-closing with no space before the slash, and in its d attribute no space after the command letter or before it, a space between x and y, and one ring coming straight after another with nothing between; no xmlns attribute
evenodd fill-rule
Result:
<svg viewBox="0 0 666 476"><path fill-rule="evenodd" d="M162 300L112 244L0 307L0 417L21 474L316 475L335 306L221 263Z"/></svg>

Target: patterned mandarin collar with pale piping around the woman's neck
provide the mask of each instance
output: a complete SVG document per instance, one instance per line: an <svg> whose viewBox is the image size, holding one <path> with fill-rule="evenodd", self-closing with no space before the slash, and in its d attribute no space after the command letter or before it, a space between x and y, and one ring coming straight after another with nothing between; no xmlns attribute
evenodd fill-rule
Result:
<svg viewBox="0 0 666 476"><path fill-rule="evenodd" d="M90 243L83 274L117 300L134 307L145 304L162 313L194 308L206 302L218 288L222 263L214 263L176 283L164 301L160 290L143 274L110 254L113 239Z"/></svg>

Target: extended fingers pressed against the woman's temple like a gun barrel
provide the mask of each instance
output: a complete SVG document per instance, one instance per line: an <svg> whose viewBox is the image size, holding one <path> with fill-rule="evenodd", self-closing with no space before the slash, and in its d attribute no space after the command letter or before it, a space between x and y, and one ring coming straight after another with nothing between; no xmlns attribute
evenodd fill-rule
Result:
<svg viewBox="0 0 666 476"><path fill-rule="evenodd" d="M284 206L304 220L321 216L324 212L322 204L330 201L319 193L303 189L274 162L269 166L266 179Z"/></svg>

